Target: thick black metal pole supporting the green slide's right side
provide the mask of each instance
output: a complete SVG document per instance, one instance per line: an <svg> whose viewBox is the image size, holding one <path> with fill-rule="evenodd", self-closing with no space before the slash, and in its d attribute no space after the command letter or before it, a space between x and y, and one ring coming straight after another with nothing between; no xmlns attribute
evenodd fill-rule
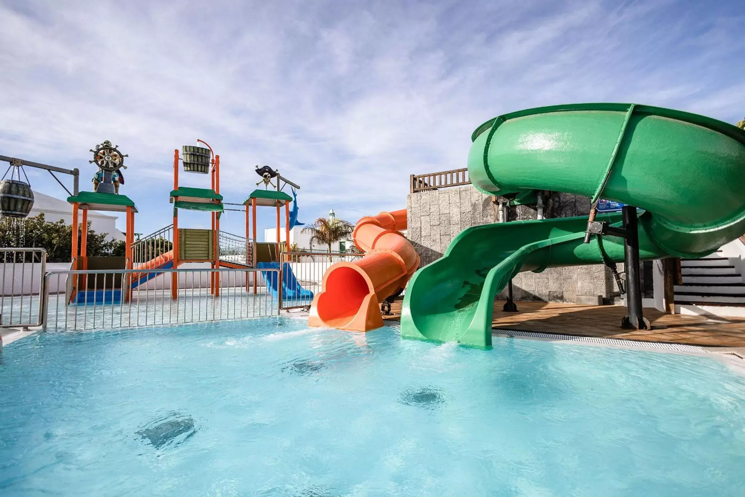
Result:
<svg viewBox="0 0 745 497"><path fill-rule="evenodd" d="M624 206L621 211L624 238L624 270L626 271L626 302L629 314L621 321L622 328L649 329L649 321L641 314L641 280L639 279L639 235L636 207Z"/></svg>

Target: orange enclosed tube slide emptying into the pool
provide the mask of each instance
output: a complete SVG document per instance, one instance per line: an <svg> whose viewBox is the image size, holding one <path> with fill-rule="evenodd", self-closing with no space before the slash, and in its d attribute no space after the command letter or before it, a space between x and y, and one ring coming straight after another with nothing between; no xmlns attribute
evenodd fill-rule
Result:
<svg viewBox="0 0 745 497"><path fill-rule="evenodd" d="M352 240L365 256L326 270L321 291L313 299L309 326L358 332L383 326L381 301L400 293L419 268L419 256L401 229L406 229L406 209L358 221Z"/></svg>

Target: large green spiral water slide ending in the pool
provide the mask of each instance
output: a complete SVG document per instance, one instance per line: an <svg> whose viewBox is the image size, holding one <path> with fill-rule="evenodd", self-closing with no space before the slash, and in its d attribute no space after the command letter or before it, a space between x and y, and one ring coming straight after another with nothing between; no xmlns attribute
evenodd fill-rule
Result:
<svg viewBox="0 0 745 497"><path fill-rule="evenodd" d="M500 115L472 136L469 176L484 194L564 191L643 209L641 259L705 256L745 232L745 131L636 104L573 104ZM406 338L492 343L495 295L520 271L623 262L622 238L583 242L588 219L472 227L410 280ZM621 215L598 216L620 226Z"/></svg>

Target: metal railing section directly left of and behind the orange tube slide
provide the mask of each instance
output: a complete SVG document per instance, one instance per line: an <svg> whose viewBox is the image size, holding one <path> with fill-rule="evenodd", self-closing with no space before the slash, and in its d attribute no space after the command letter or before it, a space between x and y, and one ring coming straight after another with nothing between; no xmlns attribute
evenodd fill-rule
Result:
<svg viewBox="0 0 745 497"><path fill-rule="evenodd" d="M279 307L282 309L311 306L321 291L323 275L337 262L353 262L361 253L282 252L280 265L282 288Z"/></svg>

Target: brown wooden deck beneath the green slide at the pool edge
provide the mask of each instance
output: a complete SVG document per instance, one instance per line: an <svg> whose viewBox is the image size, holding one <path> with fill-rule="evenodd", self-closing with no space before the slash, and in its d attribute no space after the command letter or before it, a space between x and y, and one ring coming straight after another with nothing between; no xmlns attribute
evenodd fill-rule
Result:
<svg viewBox="0 0 745 497"><path fill-rule="evenodd" d="M393 316L399 320L401 300L393 303ZM566 303L518 302L517 312L504 312L504 302L494 305L492 326L525 332L558 333L623 340L668 342L717 347L745 347L745 318L662 314L644 308L652 329L621 329L623 306L580 306Z"/></svg>

